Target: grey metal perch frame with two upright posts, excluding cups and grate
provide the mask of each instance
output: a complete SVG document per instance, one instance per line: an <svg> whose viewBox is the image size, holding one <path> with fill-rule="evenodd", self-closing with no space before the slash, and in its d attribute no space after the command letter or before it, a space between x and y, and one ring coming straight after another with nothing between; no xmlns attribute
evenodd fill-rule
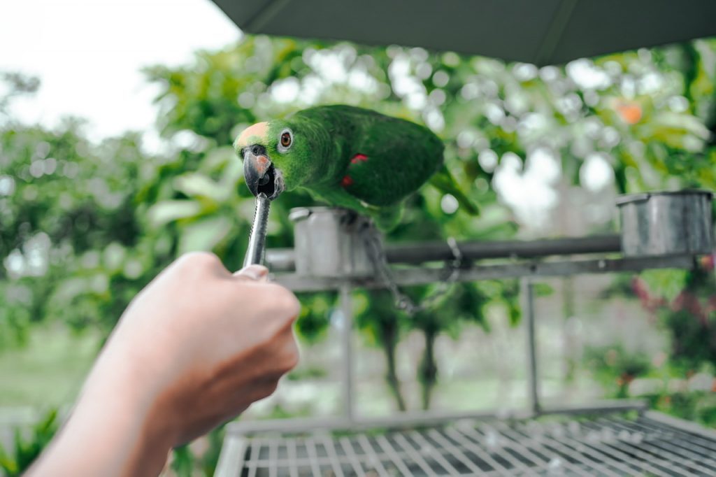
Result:
<svg viewBox="0 0 716 477"><path fill-rule="evenodd" d="M525 327L528 350L528 408L516 410L509 415L526 418L546 413L584 413L586 411L644 410L640 401L601 401L587 403L574 408L546 408L541 403L538 380L538 351L536 343L536 317L534 312L533 279L548 276L570 276L576 274L605 274L644 269L689 269L695 266L691 255L624 258L617 255L619 236L595 236L586 238L558 238L536 241L458 243L464 264L456 272L455 281L478 281L487 279L521 278L523 326ZM308 418L289 420L243 420L228 425L229 433L245 434L259 431L286 430L299 432L320 428L365 428L382 425L390 428L407 423L438 422L465 417L487 417L485 413L434 414L404 413L389 418L371 420L359 416L354 403L354 347L352 342L353 304L352 290L355 288L382 288L387 286L380 276L305 276L295 271L294 252L286 249L267 250L266 259L273 279L294 291L339 291L339 309L342 313L342 414L332 418ZM599 256L587 255L599 254ZM448 260L453 257L448 244L404 244L386 247L386 258L390 264L415 264L418 258L425 259L421 266L392 269L392 279L400 286L428 284L439 281L445 269L429 262ZM500 261L501 259L501 261ZM480 261L482 260L482 261ZM495 261L500 261L495 263ZM502 415L505 415L503 412Z"/></svg>

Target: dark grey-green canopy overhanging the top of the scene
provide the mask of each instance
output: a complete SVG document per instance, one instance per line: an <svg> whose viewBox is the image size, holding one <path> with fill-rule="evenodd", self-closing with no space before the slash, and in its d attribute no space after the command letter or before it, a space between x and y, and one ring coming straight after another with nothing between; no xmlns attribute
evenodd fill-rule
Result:
<svg viewBox="0 0 716 477"><path fill-rule="evenodd" d="M716 35L715 0L213 0L244 31L538 65Z"/></svg>

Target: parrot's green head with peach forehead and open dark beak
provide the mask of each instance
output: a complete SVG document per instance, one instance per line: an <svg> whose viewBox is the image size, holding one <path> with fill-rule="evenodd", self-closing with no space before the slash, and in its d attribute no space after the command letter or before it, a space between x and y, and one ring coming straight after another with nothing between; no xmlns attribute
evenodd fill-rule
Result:
<svg viewBox="0 0 716 477"><path fill-rule="evenodd" d="M254 196L273 200L281 192L308 183L316 173L309 140L300 124L287 120L258 122L243 130L233 147L243 158L243 175Z"/></svg>

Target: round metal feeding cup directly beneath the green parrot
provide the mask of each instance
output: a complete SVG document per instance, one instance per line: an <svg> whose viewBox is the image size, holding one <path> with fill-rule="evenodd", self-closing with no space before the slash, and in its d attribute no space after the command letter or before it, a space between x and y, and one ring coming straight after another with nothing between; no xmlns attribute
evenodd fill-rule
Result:
<svg viewBox="0 0 716 477"><path fill-rule="evenodd" d="M375 273L369 246L379 241L372 221L342 208L294 208L296 273L357 277Z"/></svg>

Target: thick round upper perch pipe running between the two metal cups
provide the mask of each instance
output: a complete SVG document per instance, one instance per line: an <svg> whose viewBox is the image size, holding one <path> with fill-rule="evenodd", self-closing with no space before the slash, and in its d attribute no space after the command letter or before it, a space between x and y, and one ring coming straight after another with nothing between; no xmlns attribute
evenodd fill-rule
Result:
<svg viewBox="0 0 716 477"><path fill-rule="evenodd" d="M530 241L464 241L458 242L458 249L463 254L463 259L467 261L606 254L621 251L621 238L614 234ZM392 244L385 247L385 256L390 264L422 264L455 259L453 250L447 242ZM274 271L290 271L296 267L296 255L293 249L271 249L266 251L266 259L271 264L271 270Z"/></svg>

